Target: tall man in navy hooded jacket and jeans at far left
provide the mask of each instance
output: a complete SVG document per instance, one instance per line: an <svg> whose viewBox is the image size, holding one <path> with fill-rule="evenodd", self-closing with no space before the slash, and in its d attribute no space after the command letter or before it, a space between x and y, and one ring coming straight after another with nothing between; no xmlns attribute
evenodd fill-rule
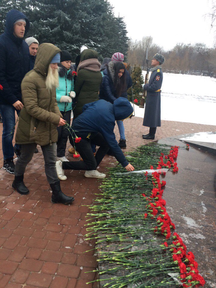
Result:
<svg viewBox="0 0 216 288"><path fill-rule="evenodd" d="M0 110L3 119L3 169L14 174L13 156L20 154L19 145L13 147L15 111L22 109L21 82L29 71L29 46L24 36L29 20L21 12L10 10L6 16L4 33L0 36Z"/></svg>

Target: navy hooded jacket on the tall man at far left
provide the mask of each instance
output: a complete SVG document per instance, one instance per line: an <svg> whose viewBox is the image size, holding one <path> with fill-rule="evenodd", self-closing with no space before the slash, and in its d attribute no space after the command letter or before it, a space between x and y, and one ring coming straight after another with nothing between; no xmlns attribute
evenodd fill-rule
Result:
<svg viewBox="0 0 216 288"><path fill-rule="evenodd" d="M0 35L0 104L22 101L21 82L29 71L29 46L24 38L13 35L13 24L18 19L26 20L24 37L29 30L29 20L17 10L10 10L6 16L4 33Z"/></svg>

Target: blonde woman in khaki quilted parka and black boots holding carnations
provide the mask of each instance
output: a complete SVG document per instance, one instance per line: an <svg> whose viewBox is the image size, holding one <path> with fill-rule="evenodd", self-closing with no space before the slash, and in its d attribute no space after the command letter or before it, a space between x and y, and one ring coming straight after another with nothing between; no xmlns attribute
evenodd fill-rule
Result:
<svg viewBox="0 0 216 288"><path fill-rule="evenodd" d="M58 109L55 92L58 87L59 62L60 49L50 43L41 44L34 69L22 80L24 107L19 115L16 132L16 143L22 146L15 166L12 187L20 194L29 194L23 178L26 166L32 160L38 144L44 155L45 173L52 189L51 202L70 204L74 199L62 193L55 167L58 139L56 127L65 125Z"/></svg>

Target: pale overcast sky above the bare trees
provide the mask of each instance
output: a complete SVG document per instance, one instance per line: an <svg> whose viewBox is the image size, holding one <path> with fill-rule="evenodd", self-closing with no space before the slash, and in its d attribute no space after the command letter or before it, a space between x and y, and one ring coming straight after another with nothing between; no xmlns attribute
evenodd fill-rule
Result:
<svg viewBox="0 0 216 288"><path fill-rule="evenodd" d="M128 37L141 40L152 36L154 43L165 50L176 43L214 44L211 19L211 0L108 0L115 16L125 17Z"/></svg>

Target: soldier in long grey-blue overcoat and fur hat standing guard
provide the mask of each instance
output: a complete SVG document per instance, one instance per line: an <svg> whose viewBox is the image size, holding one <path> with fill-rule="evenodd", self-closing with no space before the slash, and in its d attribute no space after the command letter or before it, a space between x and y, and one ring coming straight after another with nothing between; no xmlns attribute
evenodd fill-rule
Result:
<svg viewBox="0 0 216 288"><path fill-rule="evenodd" d="M143 135L143 139L155 139L156 129L161 126L161 86L163 82L161 64L163 63L164 56L155 54L149 83L143 86L143 89L147 91L143 126L149 127L149 134Z"/></svg>

